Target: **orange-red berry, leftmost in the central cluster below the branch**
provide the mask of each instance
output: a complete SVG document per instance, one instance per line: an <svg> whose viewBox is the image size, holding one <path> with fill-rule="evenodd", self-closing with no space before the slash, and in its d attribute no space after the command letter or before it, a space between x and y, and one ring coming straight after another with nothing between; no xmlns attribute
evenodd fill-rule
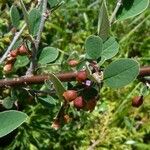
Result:
<svg viewBox="0 0 150 150"><path fill-rule="evenodd" d="M75 90L67 90L66 92L63 93L63 97L65 98L66 101L73 101L75 98L77 98L77 91Z"/></svg>

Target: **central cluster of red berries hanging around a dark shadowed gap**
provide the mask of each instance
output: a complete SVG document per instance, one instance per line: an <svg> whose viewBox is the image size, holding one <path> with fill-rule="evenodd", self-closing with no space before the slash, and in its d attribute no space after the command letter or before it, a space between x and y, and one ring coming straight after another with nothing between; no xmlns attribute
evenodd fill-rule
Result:
<svg viewBox="0 0 150 150"><path fill-rule="evenodd" d="M63 93L65 101L73 103L74 107L77 108L77 110L84 109L87 111L93 111L97 103L97 92L96 94L91 96L90 91L92 91L94 88L91 86L92 82L87 79L86 71L79 71L77 73L76 80L78 81L79 84L82 84L85 88L79 91L77 90L65 91ZM86 99L85 97L89 98Z"/></svg>

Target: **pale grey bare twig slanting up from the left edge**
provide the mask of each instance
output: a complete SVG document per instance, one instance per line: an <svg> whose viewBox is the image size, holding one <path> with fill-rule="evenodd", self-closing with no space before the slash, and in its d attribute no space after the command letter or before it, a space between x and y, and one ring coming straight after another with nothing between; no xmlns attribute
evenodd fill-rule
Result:
<svg viewBox="0 0 150 150"><path fill-rule="evenodd" d="M6 52L4 53L4 55L2 56L2 58L0 59L0 64L3 63L3 61L7 58L7 55L9 54L9 52L12 50L14 44L16 43L16 41L19 39L19 37L21 36L23 30L26 28L26 24L23 25L23 27L21 28L21 30L19 32L16 33L16 35L14 36L11 44L9 45L9 47L7 48Z"/></svg>

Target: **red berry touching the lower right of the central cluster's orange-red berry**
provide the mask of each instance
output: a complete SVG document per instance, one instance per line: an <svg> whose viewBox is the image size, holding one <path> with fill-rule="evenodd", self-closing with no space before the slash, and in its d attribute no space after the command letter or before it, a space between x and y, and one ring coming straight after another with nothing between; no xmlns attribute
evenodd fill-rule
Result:
<svg viewBox="0 0 150 150"><path fill-rule="evenodd" d="M73 104L77 109L82 109L85 106L85 101L83 100L82 96L79 96L73 101Z"/></svg>

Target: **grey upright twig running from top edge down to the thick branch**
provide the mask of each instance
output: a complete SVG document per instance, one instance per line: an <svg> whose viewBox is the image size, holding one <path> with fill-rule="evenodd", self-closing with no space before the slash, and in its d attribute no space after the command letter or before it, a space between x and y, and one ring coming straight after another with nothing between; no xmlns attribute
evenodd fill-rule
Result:
<svg viewBox="0 0 150 150"><path fill-rule="evenodd" d="M37 37L34 41L34 45L35 45L35 49L33 49L32 51L32 60L30 63L30 67L26 72L26 75L32 75L33 72L35 71L35 68L37 66L37 53L38 53L38 49L39 49L39 44L41 41L41 36L42 36L42 32L43 32L43 28L44 28L44 24L45 24L45 20L46 20L46 11L47 11L47 0L43 0L43 7L42 7L42 16L41 16L41 22L40 22L40 26L39 26L39 31L37 33Z"/></svg>

